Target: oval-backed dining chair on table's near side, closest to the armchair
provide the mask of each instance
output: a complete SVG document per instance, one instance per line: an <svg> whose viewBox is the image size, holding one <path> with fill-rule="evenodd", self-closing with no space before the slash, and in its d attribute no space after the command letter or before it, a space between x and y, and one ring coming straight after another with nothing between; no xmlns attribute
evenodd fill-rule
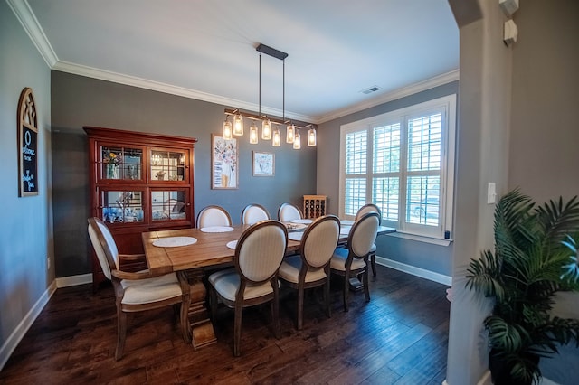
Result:
<svg viewBox="0 0 579 385"><path fill-rule="evenodd" d="M261 221L243 231L235 247L234 268L209 276L209 304L217 315L217 299L234 309L233 355L241 355L242 309L271 302L276 338L280 337L278 270L288 245L288 230L279 221Z"/></svg>

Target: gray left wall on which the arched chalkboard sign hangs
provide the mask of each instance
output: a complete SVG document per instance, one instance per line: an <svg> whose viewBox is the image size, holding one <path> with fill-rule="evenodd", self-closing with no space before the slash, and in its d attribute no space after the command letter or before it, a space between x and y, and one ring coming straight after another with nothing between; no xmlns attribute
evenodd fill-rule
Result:
<svg viewBox="0 0 579 385"><path fill-rule="evenodd" d="M51 211L50 70L5 1L0 2L0 368L31 322L54 279ZM33 89L38 114L36 196L18 198L16 109L21 91ZM31 312L31 315L29 315ZM20 328L20 329L19 329ZM25 331L25 330L24 330Z"/></svg>

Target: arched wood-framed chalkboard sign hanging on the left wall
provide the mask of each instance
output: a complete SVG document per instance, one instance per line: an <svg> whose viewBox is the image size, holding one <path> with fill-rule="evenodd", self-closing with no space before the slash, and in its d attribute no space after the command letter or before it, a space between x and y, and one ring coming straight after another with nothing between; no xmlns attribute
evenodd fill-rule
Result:
<svg viewBox="0 0 579 385"><path fill-rule="evenodd" d="M33 90L18 101L18 196L38 195L38 120Z"/></svg>

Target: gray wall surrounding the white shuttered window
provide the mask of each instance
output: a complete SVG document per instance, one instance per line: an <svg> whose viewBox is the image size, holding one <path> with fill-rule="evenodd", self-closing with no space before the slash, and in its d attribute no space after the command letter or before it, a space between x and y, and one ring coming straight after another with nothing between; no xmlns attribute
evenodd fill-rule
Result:
<svg viewBox="0 0 579 385"><path fill-rule="evenodd" d="M453 81L434 89L396 99L374 108L367 108L319 125L318 193L327 195L328 210L333 213L338 212L340 127L342 125L427 100L456 94L458 90L459 82ZM380 257L392 259L415 268L423 268L444 276L451 276L452 244L448 247L443 247L385 236L376 239L376 247L376 255Z"/></svg>

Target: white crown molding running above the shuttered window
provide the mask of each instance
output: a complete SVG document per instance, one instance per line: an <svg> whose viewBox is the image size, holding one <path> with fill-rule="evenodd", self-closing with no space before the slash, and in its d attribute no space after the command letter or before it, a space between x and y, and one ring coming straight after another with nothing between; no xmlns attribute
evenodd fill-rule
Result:
<svg viewBox="0 0 579 385"><path fill-rule="evenodd" d="M389 101L401 99L418 92L425 91L426 89L433 89L434 87L438 87L459 79L460 70L451 70L450 72L436 76L429 80L423 80L410 86L403 87L402 89L395 89L392 92L384 94L380 98L367 100L352 106L348 106L347 108L338 109L337 111L333 111L330 114L320 116L318 119L316 119L316 123L321 124L330 120L337 119L338 117L345 117L346 115L354 114L367 108L373 108Z"/></svg>

